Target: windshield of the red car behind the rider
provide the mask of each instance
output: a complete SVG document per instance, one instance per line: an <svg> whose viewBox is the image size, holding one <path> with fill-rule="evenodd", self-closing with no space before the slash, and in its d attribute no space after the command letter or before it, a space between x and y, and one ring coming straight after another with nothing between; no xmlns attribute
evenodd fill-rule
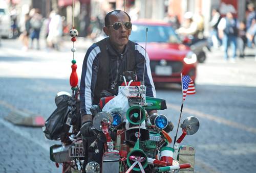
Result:
<svg viewBox="0 0 256 173"><path fill-rule="evenodd" d="M145 42L147 30L147 42L181 43L180 38L170 26L151 26L146 24L133 24L129 37L134 42Z"/></svg>

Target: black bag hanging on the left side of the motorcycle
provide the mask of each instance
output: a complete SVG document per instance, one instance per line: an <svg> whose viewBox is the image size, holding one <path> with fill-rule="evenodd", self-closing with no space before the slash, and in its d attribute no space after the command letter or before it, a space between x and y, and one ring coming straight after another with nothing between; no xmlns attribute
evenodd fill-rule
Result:
<svg viewBox="0 0 256 173"><path fill-rule="evenodd" d="M70 99L70 97L69 97ZM62 100L45 122L45 136L51 140L60 140L67 136L70 126L66 124L71 107L69 99Z"/></svg>

